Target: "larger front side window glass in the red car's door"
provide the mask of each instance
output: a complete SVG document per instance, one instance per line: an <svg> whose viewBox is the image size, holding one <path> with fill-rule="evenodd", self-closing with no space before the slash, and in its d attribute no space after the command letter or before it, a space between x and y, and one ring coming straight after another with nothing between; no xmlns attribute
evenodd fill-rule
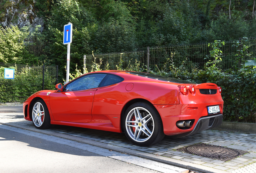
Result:
<svg viewBox="0 0 256 173"><path fill-rule="evenodd" d="M65 88L65 91L76 91L84 89L93 89L99 87L99 84L107 74L89 74L78 78L68 84Z"/></svg>

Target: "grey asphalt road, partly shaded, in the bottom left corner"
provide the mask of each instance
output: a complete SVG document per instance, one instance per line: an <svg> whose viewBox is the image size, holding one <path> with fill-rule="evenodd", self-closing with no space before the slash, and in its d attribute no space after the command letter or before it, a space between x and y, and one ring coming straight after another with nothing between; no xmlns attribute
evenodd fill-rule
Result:
<svg viewBox="0 0 256 173"><path fill-rule="evenodd" d="M1 173L157 173L82 149L0 129Z"/></svg>

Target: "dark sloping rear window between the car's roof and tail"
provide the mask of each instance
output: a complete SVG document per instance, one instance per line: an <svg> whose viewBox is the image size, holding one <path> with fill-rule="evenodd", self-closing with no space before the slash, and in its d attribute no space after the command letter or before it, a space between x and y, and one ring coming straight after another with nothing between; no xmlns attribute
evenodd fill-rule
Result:
<svg viewBox="0 0 256 173"><path fill-rule="evenodd" d="M176 78L171 78L171 77L166 77L166 76L160 76L160 75L156 75L156 74L149 74L149 73L144 73L144 72L127 72L130 74L134 74L137 76L143 76L143 77L147 77L147 78L153 78L156 80L163 80L163 81L167 81L167 82L175 82L175 83L180 83L180 84L192 84L192 82L188 82L186 80L181 80L181 79L176 79Z"/></svg>

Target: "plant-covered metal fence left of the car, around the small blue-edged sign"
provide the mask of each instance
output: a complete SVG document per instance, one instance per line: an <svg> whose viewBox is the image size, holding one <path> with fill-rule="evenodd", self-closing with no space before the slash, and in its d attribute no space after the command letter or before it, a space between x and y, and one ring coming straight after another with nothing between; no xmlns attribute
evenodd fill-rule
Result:
<svg viewBox="0 0 256 173"><path fill-rule="evenodd" d="M4 78L4 68L14 69L14 79ZM27 66L0 62L0 103L23 102L33 93L54 89L58 66Z"/></svg>

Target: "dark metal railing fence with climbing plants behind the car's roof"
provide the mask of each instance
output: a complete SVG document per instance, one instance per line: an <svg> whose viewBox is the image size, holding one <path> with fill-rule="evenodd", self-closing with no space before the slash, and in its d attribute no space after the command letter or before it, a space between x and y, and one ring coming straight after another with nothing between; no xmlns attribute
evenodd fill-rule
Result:
<svg viewBox="0 0 256 173"><path fill-rule="evenodd" d="M147 70L154 70L155 68L161 69L164 66L169 66L171 63L176 67L184 65L190 71L193 68L202 69L209 60L207 56L212 50L208 44L147 47L145 50L135 52L85 55L84 69L91 72L95 70L95 66L100 65L102 70L129 70L131 67L140 64L140 67L147 66ZM251 53L251 56L246 56L245 54L243 58L237 56L237 50L242 50L243 45L249 46L247 51ZM245 60L256 56L256 38L240 38L237 41L228 41L220 49L222 51L222 61L218 64L219 68L222 70L238 69L241 64L245 63ZM173 57L172 54L174 54Z"/></svg>

